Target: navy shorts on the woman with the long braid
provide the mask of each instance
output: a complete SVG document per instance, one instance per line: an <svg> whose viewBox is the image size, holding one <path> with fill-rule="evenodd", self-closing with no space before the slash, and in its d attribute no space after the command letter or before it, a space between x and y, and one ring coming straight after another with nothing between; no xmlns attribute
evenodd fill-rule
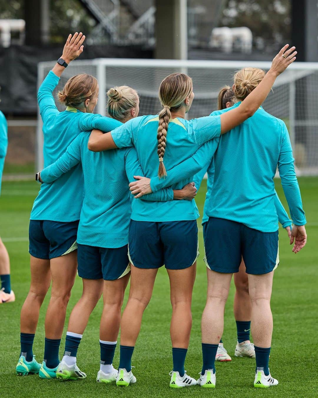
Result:
<svg viewBox="0 0 318 398"><path fill-rule="evenodd" d="M130 220L128 240L130 262L138 268L184 269L199 255L196 220Z"/></svg>

